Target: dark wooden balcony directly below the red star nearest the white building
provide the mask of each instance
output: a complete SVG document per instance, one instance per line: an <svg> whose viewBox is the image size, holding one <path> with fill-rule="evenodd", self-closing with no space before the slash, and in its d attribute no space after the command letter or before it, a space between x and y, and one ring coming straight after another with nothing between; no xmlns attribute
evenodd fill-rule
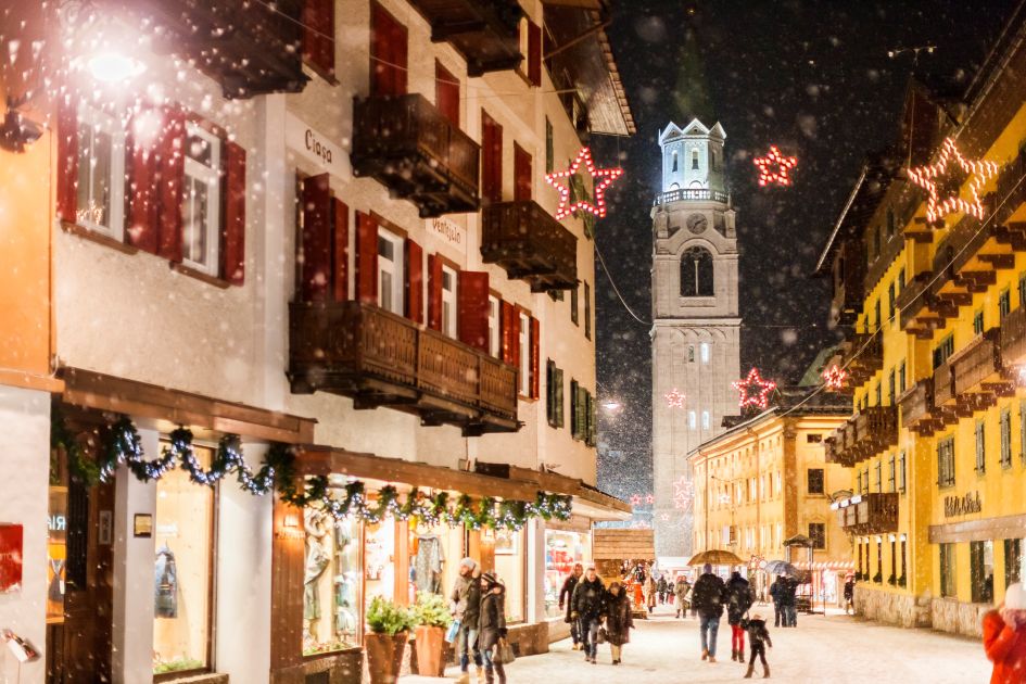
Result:
<svg viewBox="0 0 1026 684"><path fill-rule="evenodd" d="M498 264L532 292L578 286L578 239L537 202L502 202L484 207L481 257Z"/></svg>

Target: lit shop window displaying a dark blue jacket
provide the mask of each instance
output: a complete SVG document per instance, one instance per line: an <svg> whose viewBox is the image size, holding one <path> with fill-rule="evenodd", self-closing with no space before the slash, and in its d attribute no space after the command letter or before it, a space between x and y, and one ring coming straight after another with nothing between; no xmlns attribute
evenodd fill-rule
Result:
<svg viewBox="0 0 1026 684"><path fill-rule="evenodd" d="M193 449L199 466L208 469L213 451ZM194 484L182 469L168 471L155 486L153 672L205 670L212 649L217 487Z"/></svg>

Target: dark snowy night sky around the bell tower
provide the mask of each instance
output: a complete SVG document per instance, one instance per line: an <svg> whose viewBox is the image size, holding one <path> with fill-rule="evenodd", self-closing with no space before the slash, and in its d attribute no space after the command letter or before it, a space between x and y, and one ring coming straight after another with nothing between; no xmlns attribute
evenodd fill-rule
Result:
<svg viewBox="0 0 1026 684"><path fill-rule="evenodd" d="M916 73L967 85L1017 0L850 2L612 0L607 29L637 134L596 136L600 165L619 157L625 177L607 194L597 248L628 303L651 318L649 211L659 190L658 130L698 115L726 130L727 170L740 251L742 370L758 366L796 382L823 346L828 282L812 269L867 152L891 144L911 54L934 45ZM986 8L981 10L980 8ZM710 116L711 114L711 116ZM759 188L753 156L776 144L798 156L795 185ZM649 326L620 304L596 266L600 442L599 486L628 497L651 491Z"/></svg>

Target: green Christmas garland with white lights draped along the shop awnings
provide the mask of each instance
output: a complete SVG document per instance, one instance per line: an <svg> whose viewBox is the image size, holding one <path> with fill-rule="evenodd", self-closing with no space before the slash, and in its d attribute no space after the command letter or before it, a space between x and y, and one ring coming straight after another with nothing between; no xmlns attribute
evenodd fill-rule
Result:
<svg viewBox="0 0 1026 684"><path fill-rule="evenodd" d="M235 472L239 485L255 496L277 487L281 499L297 508L315 506L334 518L355 517L368 523L378 523L391 516L398 520L417 518L432 525L445 523L449 527L464 524L473 530L520 530L531 518L570 519L571 497L546 492L539 492L533 502L497 502L485 496L474 504L467 494L460 494L455 503L451 503L447 492L429 496L414 487L403 501L398 490L390 484L381 487L371 502L366 485L354 481L346 483L342 487L344 495L337 497L326 476L304 479L296 474L295 454L286 444L271 444L264 464L254 474L243 458L239 435L226 434L218 441L208 470L197 460L190 430L178 428L168 438L161 455L148 460L136 426L127 416L121 416L104 428L103 447L98 459L92 460L86 456L60 413L54 413L50 423L51 447L64 449L71 476L89 486L109 482L123 464L142 482L160 480L168 470L180 466L189 473L189 479L200 485L213 486Z"/></svg>

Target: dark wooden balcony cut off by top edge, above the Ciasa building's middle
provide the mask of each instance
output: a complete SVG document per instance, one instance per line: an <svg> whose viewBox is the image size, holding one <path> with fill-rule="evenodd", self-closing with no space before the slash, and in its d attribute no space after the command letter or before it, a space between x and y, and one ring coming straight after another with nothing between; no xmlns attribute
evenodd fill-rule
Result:
<svg viewBox="0 0 1026 684"><path fill-rule="evenodd" d="M448 42L467 60L467 74L516 68L520 17L516 0L410 0L428 23L431 40Z"/></svg>

